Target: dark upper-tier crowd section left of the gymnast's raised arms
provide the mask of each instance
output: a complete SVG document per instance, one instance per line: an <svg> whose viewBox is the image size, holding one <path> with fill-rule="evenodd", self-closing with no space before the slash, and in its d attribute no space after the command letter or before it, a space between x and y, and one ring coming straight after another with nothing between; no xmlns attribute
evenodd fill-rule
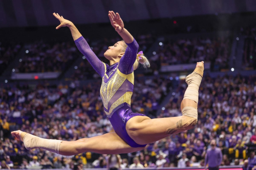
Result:
<svg viewBox="0 0 256 170"><path fill-rule="evenodd" d="M26 45L25 56L15 72L61 72L78 57L74 42L46 43L36 41Z"/></svg>

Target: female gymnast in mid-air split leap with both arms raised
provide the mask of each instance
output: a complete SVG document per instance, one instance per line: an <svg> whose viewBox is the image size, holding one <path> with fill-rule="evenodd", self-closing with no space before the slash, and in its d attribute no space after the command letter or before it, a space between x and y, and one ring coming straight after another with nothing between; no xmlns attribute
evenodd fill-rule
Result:
<svg viewBox="0 0 256 170"><path fill-rule="evenodd" d="M108 115L115 132L101 136L82 138L76 141L43 139L20 130L12 135L22 140L28 150L41 148L60 155L76 155L83 152L99 154L121 154L143 150L152 143L192 129L197 124L198 90L203 77L203 61L198 62L195 70L186 77L188 87L181 102L182 116L151 119L131 110L131 97L134 87L134 70L139 63L149 66L147 59L138 52L139 45L124 28L118 13L109 11L111 25L122 37L104 53L110 65L101 62L93 53L87 41L74 24L59 14L53 15L60 21L56 27L69 27L79 51L86 56L93 68L102 77L100 96L104 111Z"/></svg>

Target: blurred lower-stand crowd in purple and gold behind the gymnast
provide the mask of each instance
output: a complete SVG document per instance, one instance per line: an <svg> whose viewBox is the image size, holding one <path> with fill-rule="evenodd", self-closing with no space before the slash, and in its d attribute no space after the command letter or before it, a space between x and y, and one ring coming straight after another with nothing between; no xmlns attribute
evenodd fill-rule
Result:
<svg viewBox="0 0 256 170"><path fill-rule="evenodd" d="M151 77L135 81L132 110L154 117L163 97L172 87L168 77ZM174 80L173 80L174 81ZM211 139L223 154L221 165L244 165L255 168L256 144L256 76L205 75L199 91L198 124L192 130L147 144L140 152L111 157L122 167L187 167L204 166L206 150ZM113 131L103 114L99 95L100 81L80 86L27 85L5 87L0 92L1 166L78 168L106 167L110 156L83 153L60 156L41 149L26 150L24 144L10 136L20 129L42 138L77 140ZM168 87L168 88L167 88ZM173 93L157 117L181 115L180 103L186 83ZM252 149L254 146L254 150ZM6 164L6 165L5 165ZM140 165L141 164L141 165Z"/></svg>

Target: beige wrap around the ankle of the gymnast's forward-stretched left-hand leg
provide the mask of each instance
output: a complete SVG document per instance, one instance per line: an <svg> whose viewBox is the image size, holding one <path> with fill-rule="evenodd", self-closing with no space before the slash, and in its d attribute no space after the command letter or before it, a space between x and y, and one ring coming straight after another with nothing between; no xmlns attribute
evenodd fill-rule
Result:
<svg viewBox="0 0 256 170"><path fill-rule="evenodd" d="M23 137L23 142L28 150L41 148L59 154L59 146L62 140L44 139L27 133Z"/></svg>

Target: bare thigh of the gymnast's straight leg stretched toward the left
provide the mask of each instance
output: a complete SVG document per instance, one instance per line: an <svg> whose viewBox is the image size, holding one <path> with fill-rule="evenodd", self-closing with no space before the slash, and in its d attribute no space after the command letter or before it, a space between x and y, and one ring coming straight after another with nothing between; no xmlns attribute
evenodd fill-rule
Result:
<svg viewBox="0 0 256 170"><path fill-rule="evenodd" d="M79 141L80 140L80 141ZM95 152L99 154L121 154L136 152L144 149L133 148L125 143L116 132L106 133L104 135L91 138L79 139L80 151Z"/></svg>

